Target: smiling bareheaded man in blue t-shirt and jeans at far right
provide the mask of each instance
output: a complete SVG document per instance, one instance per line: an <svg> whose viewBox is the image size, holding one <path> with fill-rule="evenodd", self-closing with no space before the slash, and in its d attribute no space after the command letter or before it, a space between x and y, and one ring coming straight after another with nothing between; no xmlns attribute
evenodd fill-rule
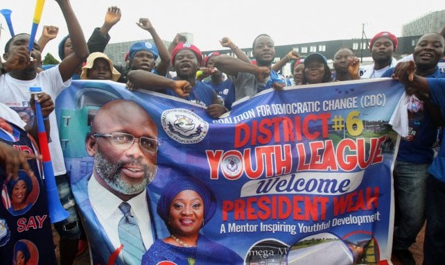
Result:
<svg viewBox="0 0 445 265"><path fill-rule="evenodd" d="M444 46L444 37L438 33L428 33L420 37L412 53L417 76L445 77L437 67ZM393 73L394 68L389 69L382 77L390 77ZM425 211L428 207L426 202L428 168L433 162L433 144L437 139L437 128L443 125L443 119L439 107L430 103L428 95L416 92L411 87L405 89L407 94L415 94L423 101L424 108L408 112L408 137L402 137L399 144L393 174L396 228L392 248L394 255L402 264L415 264L415 259L408 248L415 243L417 234L425 222Z"/></svg>

